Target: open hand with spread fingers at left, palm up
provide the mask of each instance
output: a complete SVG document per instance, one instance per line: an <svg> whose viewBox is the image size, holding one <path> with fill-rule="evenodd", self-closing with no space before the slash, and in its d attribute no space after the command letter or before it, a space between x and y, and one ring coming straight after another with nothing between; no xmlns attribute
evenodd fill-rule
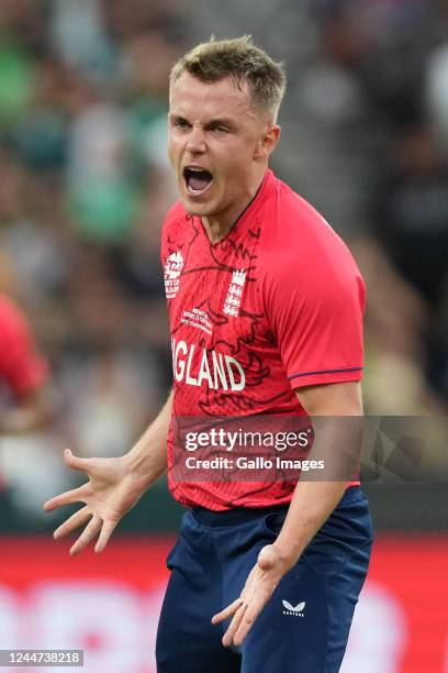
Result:
<svg viewBox="0 0 448 673"><path fill-rule="evenodd" d="M108 544L120 519L135 505L143 490L134 483L132 475L125 471L120 457L82 459L74 455L67 449L64 452L64 459L72 470L85 472L89 482L44 503L46 511L74 503L85 504L55 530L53 537L57 540L87 523L70 548L70 554L79 553L97 536L99 537L94 551L99 553Z"/></svg>

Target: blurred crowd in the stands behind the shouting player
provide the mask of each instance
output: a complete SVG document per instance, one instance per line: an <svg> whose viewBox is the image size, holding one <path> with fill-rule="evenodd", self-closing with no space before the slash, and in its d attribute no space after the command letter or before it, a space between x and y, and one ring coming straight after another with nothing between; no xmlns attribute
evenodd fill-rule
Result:
<svg viewBox="0 0 448 673"><path fill-rule="evenodd" d="M272 167L366 277L366 411L447 411L446 2L1 0L0 293L49 362L53 408L0 439L3 528L53 527L42 501L76 483L61 450L120 455L166 398L168 73L242 33L287 67ZM154 493L124 528L173 525L165 483Z"/></svg>

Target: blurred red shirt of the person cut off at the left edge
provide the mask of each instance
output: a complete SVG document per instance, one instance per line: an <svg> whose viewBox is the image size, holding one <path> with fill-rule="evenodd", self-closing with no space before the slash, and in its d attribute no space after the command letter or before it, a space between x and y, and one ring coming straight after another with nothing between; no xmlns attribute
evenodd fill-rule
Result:
<svg viewBox="0 0 448 673"><path fill-rule="evenodd" d="M48 373L25 316L12 301L0 300L0 376L18 398L42 386Z"/></svg>

